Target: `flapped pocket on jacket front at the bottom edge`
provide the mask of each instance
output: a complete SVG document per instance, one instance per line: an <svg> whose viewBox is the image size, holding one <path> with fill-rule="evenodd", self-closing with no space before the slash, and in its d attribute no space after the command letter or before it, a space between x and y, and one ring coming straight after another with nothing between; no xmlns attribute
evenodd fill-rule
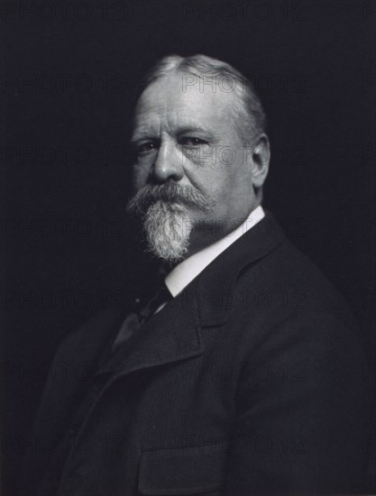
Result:
<svg viewBox="0 0 376 496"><path fill-rule="evenodd" d="M225 482L226 456L224 445L143 451L139 491L145 495L180 495L220 489Z"/></svg>

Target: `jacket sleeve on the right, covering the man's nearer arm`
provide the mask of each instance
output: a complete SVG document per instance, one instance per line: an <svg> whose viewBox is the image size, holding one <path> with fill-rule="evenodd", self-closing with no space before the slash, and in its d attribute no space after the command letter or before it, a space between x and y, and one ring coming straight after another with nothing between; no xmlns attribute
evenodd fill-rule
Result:
<svg viewBox="0 0 376 496"><path fill-rule="evenodd" d="M296 313L243 352L226 496L362 491L362 348L337 317Z"/></svg>

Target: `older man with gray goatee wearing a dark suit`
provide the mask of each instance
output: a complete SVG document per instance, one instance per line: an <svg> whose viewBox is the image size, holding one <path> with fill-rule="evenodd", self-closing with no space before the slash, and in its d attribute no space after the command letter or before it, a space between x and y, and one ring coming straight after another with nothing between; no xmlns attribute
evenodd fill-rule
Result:
<svg viewBox="0 0 376 496"><path fill-rule="evenodd" d="M132 145L128 210L164 284L61 344L25 494L361 492L361 346L343 299L261 207L270 144L252 85L219 60L166 57ZM61 363L92 373L59 381Z"/></svg>

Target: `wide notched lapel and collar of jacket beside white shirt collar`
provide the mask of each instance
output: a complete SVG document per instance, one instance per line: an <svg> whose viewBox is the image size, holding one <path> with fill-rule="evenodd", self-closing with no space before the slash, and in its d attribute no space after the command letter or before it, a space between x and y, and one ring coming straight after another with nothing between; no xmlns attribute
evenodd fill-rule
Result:
<svg viewBox="0 0 376 496"><path fill-rule="evenodd" d="M232 295L240 272L271 253L283 239L280 226L267 213L134 333L98 373L111 372L114 379L202 354L201 327L221 326L228 318L230 305L221 304L221 300L218 304L218 298Z"/></svg>

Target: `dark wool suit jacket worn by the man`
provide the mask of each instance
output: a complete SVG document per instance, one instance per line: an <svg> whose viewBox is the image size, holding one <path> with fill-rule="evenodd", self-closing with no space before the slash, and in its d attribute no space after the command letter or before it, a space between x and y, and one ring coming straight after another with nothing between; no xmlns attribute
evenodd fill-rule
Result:
<svg viewBox="0 0 376 496"><path fill-rule="evenodd" d="M362 491L353 317L271 215L105 363L123 320L108 310L60 345L25 496Z"/></svg>

